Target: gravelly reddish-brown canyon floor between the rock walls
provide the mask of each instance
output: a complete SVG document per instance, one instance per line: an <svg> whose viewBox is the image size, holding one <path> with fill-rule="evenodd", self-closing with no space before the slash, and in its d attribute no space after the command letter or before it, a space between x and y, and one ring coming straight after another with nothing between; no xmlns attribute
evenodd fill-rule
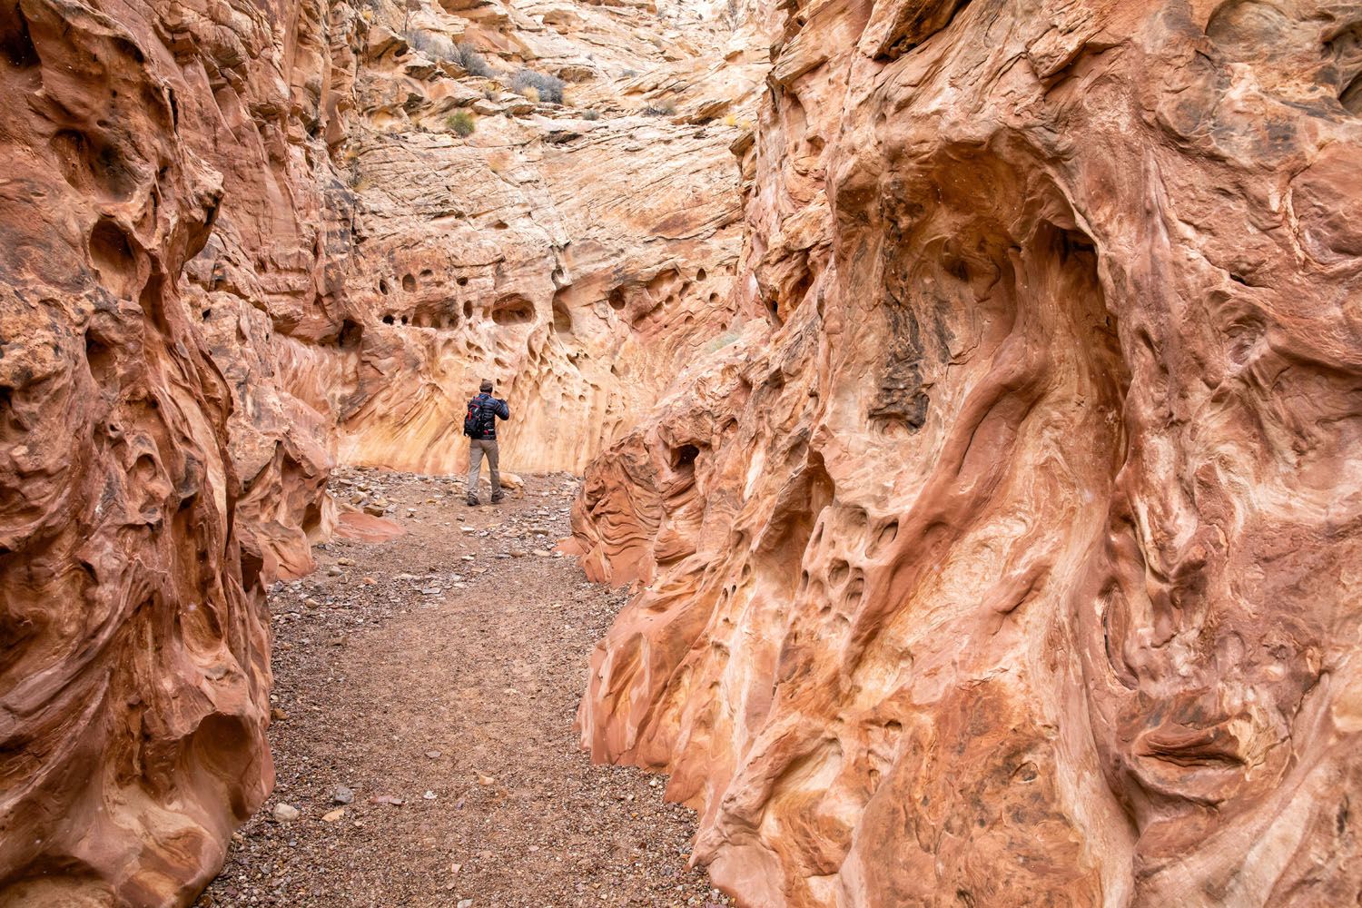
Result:
<svg viewBox="0 0 1362 908"><path fill-rule="evenodd" d="M688 869L665 780L577 749L624 596L550 554L576 487L526 476L470 509L462 479L336 472L340 501L381 496L407 534L319 546L271 592L278 783L199 905L729 904Z"/></svg>

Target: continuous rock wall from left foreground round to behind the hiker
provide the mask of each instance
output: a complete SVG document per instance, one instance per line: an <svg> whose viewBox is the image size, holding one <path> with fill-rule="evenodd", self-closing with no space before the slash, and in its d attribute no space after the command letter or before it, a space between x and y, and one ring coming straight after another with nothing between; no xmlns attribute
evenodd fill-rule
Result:
<svg viewBox="0 0 1362 908"><path fill-rule="evenodd" d="M454 470L489 376L583 463L733 313L755 31L409 7L0 0L0 903L215 873L336 460Z"/></svg>

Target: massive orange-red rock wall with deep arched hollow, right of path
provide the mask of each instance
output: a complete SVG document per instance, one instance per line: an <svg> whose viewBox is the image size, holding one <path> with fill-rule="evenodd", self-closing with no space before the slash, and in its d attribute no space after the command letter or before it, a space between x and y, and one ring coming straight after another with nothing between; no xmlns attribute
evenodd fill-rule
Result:
<svg viewBox="0 0 1362 908"><path fill-rule="evenodd" d="M1354 4L786 5L767 325L575 508L584 742L744 904L1358 900L1359 71Z"/></svg>

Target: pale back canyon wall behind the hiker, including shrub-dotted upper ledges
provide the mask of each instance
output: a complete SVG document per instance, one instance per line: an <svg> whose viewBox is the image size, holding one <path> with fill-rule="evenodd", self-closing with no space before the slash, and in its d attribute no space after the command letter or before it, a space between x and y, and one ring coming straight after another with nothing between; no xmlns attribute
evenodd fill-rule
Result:
<svg viewBox="0 0 1362 908"><path fill-rule="evenodd" d="M733 320L759 30L691 3L449 5L300 20L289 132L268 167L225 162L245 204L191 264L248 402L236 449L282 436L308 483L319 456L462 471L481 378L512 404L507 467L580 470ZM522 69L563 103L509 91ZM287 570L313 510L266 515Z"/></svg>

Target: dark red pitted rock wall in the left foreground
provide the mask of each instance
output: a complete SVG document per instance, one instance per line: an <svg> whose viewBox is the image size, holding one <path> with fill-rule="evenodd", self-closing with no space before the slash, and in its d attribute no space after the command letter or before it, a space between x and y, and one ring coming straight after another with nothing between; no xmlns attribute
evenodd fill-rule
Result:
<svg viewBox="0 0 1362 908"><path fill-rule="evenodd" d="M0 4L4 904L183 903L272 784L264 553L180 276L223 199L200 83L267 29L178 11Z"/></svg>

